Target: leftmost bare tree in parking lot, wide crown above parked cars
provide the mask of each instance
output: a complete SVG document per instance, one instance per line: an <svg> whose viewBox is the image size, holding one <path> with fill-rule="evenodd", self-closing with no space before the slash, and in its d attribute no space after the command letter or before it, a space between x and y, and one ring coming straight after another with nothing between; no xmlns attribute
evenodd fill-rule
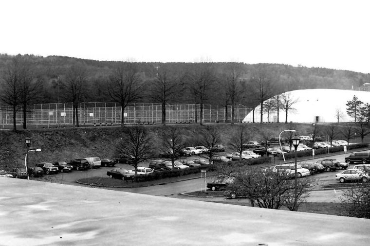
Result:
<svg viewBox="0 0 370 246"><path fill-rule="evenodd" d="M116 151L120 157L128 158L128 164L134 167L137 176L138 164L152 156L152 146L145 128L132 127L129 128L128 134L123 136L122 141L118 142Z"/></svg>

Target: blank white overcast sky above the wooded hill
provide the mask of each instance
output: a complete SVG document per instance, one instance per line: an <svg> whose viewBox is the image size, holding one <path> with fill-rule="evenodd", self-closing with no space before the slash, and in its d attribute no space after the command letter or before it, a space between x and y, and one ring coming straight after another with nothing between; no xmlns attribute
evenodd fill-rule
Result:
<svg viewBox="0 0 370 246"><path fill-rule="evenodd" d="M0 9L0 53L370 73L367 0L1 0Z"/></svg>

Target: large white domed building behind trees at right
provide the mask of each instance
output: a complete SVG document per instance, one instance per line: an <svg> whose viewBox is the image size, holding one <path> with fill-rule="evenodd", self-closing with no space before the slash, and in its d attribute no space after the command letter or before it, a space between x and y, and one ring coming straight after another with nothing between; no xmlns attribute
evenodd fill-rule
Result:
<svg viewBox="0 0 370 246"><path fill-rule="evenodd" d="M353 118L347 114L347 102L355 95L363 103L370 103L370 92L342 89L300 89L292 90L292 100L297 102L288 110L288 122L297 123L333 123L351 122ZM281 95L280 95L281 98ZM277 122L277 111L270 111L270 122ZM260 106L255 109L255 122L260 122ZM253 112L249 112L243 123L253 122ZM264 110L263 122L268 122L268 113ZM285 122L285 111L280 108L279 122Z"/></svg>

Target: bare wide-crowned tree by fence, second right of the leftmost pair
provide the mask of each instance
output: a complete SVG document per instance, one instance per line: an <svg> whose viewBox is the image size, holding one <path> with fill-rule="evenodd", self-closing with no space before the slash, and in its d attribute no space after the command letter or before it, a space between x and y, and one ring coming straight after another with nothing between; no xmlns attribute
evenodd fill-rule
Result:
<svg viewBox="0 0 370 246"><path fill-rule="evenodd" d="M142 86L137 67L133 63L120 63L109 76L108 93L113 101L121 105L121 126L124 112L129 103L141 98Z"/></svg>

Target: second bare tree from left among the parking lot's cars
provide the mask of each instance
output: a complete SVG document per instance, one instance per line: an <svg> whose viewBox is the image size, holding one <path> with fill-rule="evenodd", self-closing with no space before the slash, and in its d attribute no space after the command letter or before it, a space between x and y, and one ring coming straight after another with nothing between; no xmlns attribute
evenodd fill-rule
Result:
<svg viewBox="0 0 370 246"><path fill-rule="evenodd" d="M169 154L169 158L172 162L172 170L175 168L175 160L179 156L179 152L184 148L184 141L179 130L175 127L169 127L162 136L162 147L163 153Z"/></svg>

